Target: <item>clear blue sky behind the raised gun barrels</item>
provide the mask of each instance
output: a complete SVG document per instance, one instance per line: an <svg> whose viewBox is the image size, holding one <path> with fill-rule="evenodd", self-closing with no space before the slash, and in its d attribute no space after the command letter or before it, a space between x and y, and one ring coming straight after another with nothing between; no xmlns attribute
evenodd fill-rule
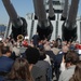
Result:
<svg viewBox="0 0 81 81"><path fill-rule="evenodd" d="M17 14L26 17L27 13L33 12L32 0L11 0ZM81 0L79 3L78 15L81 15ZM9 15L3 6L2 0L0 0L0 24L8 24Z"/></svg>

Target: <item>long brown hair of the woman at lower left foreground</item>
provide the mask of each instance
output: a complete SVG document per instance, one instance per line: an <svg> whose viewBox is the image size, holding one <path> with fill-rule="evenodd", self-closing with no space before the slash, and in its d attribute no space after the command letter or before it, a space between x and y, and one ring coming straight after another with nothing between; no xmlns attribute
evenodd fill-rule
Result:
<svg viewBox="0 0 81 81"><path fill-rule="evenodd" d="M14 62L5 81L33 81L27 59L18 57Z"/></svg>

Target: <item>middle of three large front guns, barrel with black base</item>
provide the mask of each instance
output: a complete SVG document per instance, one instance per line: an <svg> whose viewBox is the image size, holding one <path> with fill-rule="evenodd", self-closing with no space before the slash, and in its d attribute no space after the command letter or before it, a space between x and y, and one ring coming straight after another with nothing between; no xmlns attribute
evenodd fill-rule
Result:
<svg viewBox="0 0 81 81"><path fill-rule="evenodd" d="M46 12L45 12L45 8L44 8L44 1L43 0L36 0L35 4L37 4L36 6L38 6L35 10L37 10L37 14L38 14L38 26L37 26L37 32L39 33L40 39L48 39L50 40L52 31L53 31L53 27L51 22L46 18Z"/></svg>

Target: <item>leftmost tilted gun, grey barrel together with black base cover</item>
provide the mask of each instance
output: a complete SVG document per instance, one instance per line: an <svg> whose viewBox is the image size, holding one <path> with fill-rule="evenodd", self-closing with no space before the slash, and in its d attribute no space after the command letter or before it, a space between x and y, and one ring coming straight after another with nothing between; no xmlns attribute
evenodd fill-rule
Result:
<svg viewBox="0 0 81 81"><path fill-rule="evenodd" d="M25 18L17 15L10 0L2 0L2 2L10 16L10 21L12 22L11 37L15 40L18 35L23 35L25 37L27 35L27 23Z"/></svg>

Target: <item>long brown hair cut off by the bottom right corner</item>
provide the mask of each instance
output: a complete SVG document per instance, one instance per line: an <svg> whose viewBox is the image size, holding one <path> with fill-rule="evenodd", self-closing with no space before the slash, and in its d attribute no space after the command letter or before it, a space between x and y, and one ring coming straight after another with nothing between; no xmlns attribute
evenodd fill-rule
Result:
<svg viewBox="0 0 81 81"><path fill-rule="evenodd" d="M69 81L81 81L81 60L77 64L75 73Z"/></svg>

